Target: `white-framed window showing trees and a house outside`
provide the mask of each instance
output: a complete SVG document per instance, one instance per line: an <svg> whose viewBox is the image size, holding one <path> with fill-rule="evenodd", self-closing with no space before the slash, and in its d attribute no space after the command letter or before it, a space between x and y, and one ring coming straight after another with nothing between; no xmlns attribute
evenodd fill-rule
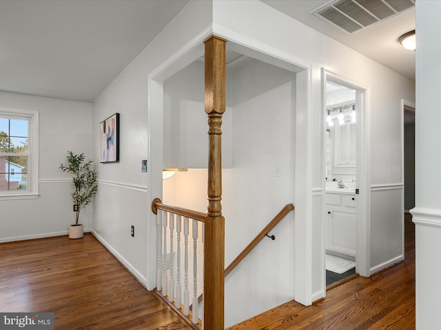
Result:
<svg viewBox="0 0 441 330"><path fill-rule="evenodd" d="M38 112L0 107L0 199L38 196Z"/></svg>

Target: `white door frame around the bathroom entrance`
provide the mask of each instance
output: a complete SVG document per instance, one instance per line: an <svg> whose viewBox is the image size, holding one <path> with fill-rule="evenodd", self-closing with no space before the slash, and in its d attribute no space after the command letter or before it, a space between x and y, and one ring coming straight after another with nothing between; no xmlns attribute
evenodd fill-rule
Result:
<svg viewBox="0 0 441 330"><path fill-rule="evenodd" d="M371 259L371 169L370 169L370 89L369 86L358 83L350 78L340 76L322 67L322 131L326 129L326 82L328 80L339 85L356 90L356 129L357 129L357 157L356 157L356 188L360 194L357 195L357 244L356 244L356 272L361 276L369 277ZM325 155L325 134L322 139L322 155ZM325 156L323 156L323 171L325 173ZM325 184L325 180L323 180ZM326 187L323 188L325 191ZM323 199L323 210L325 210L325 199ZM323 212L325 221L325 212ZM324 222L323 222L324 223ZM325 226L322 225L324 230ZM323 233L322 236L324 236ZM325 243L323 242L323 246ZM325 254L325 250L323 250ZM326 272L325 277L326 287Z"/></svg>

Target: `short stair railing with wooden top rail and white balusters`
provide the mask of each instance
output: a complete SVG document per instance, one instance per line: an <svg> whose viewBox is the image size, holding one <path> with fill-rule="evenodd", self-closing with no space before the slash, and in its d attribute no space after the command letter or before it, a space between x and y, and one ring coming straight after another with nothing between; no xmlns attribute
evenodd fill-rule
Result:
<svg viewBox="0 0 441 330"><path fill-rule="evenodd" d="M162 203L158 198L152 201L152 212L156 214L156 292L193 329L201 329L203 315L200 317L197 308L193 311L189 306L196 305L203 308L196 295L196 292L201 292L198 289L200 281L196 277L200 267L196 254L197 250L203 249L203 245L201 248L198 247L197 241L198 237L202 237L204 244L207 213L170 206ZM184 238L184 251L181 250L181 234ZM189 262L189 254L192 252L189 250L193 251L192 264ZM181 274L181 270L184 274ZM193 270L193 285L189 283L190 270ZM183 285L181 285L182 278L184 278ZM190 305L191 294L193 303Z"/></svg>

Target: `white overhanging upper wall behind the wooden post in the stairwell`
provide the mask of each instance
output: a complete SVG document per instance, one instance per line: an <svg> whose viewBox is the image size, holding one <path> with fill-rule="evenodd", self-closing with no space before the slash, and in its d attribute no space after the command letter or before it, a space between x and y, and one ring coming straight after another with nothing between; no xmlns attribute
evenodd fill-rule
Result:
<svg viewBox="0 0 441 330"><path fill-rule="evenodd" d="M164 82L164 168L207 168L205 65L194 61ZM232 166L232 114L222 118L222 165ZM205 187L206 188L206 187Z"/></svg>

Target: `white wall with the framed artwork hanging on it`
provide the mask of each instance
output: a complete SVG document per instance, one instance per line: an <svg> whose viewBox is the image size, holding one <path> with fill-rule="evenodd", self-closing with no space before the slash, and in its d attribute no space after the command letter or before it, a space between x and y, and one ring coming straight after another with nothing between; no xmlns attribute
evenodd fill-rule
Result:
<svg viewBox="0 0 441 330"><path fill-rule="evenodd" d="M119 163L100 164L98 168L94 234L149 289L155 287L156 263L156 251L149 249L150 244L155 244L150 203L162 196L163 168L162 148L150 148L162 146L162 118L149 122L157 115L149 114L149 106L154 102L148 98L152 88L149 76L159 66L171 65L172 58L198 39L211 21L209 1L190 1L93 103L92 126L97 129L92 145L97 162L99 122L118 112L121 133ZM147 159L148 173L141 173L143 159ZM131 225L135 227L134 237L130 236Z"/></svg>

